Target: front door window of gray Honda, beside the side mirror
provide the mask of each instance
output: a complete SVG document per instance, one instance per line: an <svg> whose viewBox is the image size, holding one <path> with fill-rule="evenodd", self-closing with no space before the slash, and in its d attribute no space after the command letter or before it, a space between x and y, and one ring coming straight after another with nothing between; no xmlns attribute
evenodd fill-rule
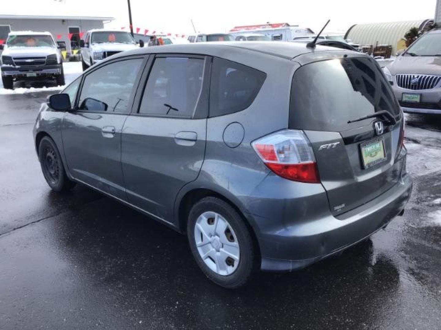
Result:
<svg viewBox="0 0 441 330"><path fill-rule="evenodd" d="M128 101L143 59L127 59L102 66L84 78L79 110L129 112Z"/></svg>

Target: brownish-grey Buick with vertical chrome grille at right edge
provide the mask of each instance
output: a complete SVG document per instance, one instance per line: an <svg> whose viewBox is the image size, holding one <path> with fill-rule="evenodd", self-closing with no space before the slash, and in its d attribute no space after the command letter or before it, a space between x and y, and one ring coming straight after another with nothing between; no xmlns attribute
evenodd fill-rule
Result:
<svg viewBox="0 0 441 330"><path fill-rule="evenodd" d="M441 29L422 35L383 70L404 112L441 114Z"/></svg>

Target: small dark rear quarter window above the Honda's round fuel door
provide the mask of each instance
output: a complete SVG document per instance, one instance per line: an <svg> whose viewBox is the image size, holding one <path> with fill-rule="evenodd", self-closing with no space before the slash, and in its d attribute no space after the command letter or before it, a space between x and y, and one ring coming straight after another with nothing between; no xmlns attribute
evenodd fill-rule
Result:
<svg viewBox="0 0 441 330"><path fill-rule="evenodd" d="M242 111L256 98L266 73L228 61L213 59L210 84L210 117Z"/></svg>

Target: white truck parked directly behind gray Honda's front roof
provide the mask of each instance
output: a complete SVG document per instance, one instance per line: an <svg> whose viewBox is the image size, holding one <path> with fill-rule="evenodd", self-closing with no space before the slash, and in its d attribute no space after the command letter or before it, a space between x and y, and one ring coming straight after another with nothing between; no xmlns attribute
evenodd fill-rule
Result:
<svg viewBox="0 0 441 330"><path fill-rule="evenodd" d="M139 45L144 47L142 39L139 40ZM129 32L110 29L87 31L84 40L80 41L80 46L83 71L109 56L138 48Z"/></svg>

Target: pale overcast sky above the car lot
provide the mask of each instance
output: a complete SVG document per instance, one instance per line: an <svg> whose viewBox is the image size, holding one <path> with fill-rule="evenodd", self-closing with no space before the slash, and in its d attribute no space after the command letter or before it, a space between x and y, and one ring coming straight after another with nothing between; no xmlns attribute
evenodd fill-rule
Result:
<svg viewBox="0 0 441 330"><path fill-rule="evenodd" d="M127 0L15 0L0 14L112 16L112 27L128 26ZM288 22L318 32L345 32L357 23L433 18L436 0L131 0L133 26L165 33L226 32L237 25ZM12 6L11 6L12 7Z"/></svg>

